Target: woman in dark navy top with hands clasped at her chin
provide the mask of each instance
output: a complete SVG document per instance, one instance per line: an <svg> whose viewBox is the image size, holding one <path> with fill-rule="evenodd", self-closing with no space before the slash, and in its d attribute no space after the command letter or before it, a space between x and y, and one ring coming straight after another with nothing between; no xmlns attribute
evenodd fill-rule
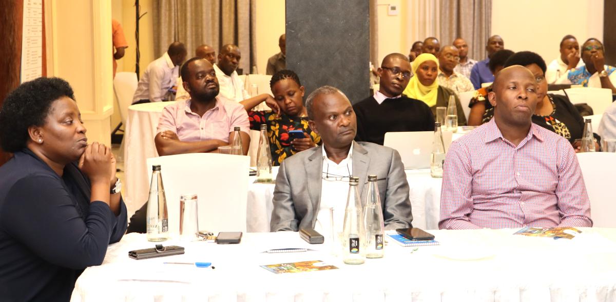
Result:
<svg viewBox="0 0 616 302"><path fill-rule="evenodd" d="M111 149L87 144L73 89L25 82L0 109L0 300L69 301L126 231Z"/></svg>

